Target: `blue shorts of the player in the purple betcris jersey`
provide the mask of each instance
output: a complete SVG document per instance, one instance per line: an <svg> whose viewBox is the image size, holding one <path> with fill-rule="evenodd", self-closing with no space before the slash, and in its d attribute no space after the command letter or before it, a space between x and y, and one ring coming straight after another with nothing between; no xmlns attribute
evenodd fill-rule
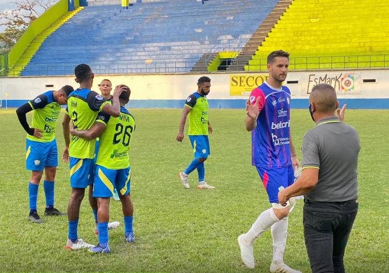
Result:
<svg viewBox="0 0 389 273"><path fill-rule="evenodd" d="M257 167L270 203L278 203L278 192L295 182L292 165L283 168Z"/></svg>

